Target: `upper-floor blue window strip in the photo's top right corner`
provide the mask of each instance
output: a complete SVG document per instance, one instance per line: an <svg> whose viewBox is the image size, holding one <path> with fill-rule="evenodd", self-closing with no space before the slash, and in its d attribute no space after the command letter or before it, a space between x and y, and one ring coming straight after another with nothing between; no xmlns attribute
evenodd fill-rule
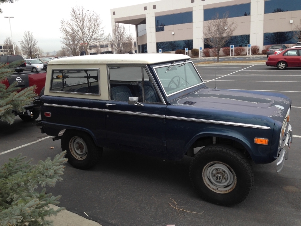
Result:
<svg viewBox="0 0 301 226"><path fill-rule="evenodd" d="M301 10L300 0L265 0L264 13L279 13Z"/></svg>

